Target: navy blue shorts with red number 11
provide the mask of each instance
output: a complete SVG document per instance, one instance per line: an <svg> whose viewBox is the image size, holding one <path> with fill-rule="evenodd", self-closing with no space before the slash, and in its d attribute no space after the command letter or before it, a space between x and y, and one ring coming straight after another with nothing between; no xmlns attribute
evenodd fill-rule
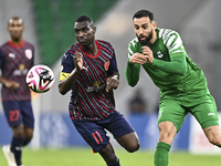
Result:
<svg viewBox="0 0 221 166"><path fill-rule="evenodd" d="M109 143L109 137L105 129L112 133L115 138L135 132L124 115L116 111L103 121L72 120L72 122L95 153Z"/></svg>

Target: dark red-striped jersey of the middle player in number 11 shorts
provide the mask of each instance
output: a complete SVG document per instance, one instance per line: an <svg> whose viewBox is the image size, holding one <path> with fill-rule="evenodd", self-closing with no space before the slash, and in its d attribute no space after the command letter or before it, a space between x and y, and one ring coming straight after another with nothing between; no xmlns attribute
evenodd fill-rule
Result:
<svg viewBox="0 0 221 166"><path fill-rule="evenodd" d="M71 73L74 68L74 54L76 51L83 54L83 70L75 86L72 89L70 102L70 115L75 120L101 121L115 111L113 91L106 92L106 77L118 72L114 48L105 41L96 40L98 53L90 55L81 45L72 45L62 58L63 71ZM109 61L106 70L105 63Z"/></svg>

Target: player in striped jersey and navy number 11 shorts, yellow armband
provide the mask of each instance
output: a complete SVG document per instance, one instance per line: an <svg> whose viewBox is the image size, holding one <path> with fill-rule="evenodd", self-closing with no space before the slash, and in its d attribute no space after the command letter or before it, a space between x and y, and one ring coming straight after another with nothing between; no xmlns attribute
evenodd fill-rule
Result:
<svg viewBox="0 0 221 166"><path fill-rule="evenodd" d="M115 110L113 90L118 87L119 73L114 48L95 40L96 27L87 15L75 21L74 31L78 43L62 58L59 91L64 95L72 90L70 116L85 142L107 166L119 166L105 129L130 153L139 148L139 142L127 120Z"/></svg>

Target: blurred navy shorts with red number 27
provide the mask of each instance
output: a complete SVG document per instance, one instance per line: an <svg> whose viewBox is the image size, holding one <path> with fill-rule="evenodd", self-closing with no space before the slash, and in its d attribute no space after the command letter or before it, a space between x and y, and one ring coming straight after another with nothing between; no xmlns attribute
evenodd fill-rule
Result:
<svg viewBox="0 0 221 166"><path fill-rule="evenodd" d="M4 101L2 106L11 127L23 124L24 127L34 128L31 101Z"/></svg>

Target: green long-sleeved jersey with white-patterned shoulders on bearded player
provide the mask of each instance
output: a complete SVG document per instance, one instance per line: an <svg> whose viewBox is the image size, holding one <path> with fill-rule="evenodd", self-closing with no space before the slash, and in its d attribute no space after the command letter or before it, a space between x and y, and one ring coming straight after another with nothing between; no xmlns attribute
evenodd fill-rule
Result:
<svg viewBox="0 0 221 166"><path fill-rule="evenodd" d="M180 35L169 29L156 29L157 40L147 45L154 53L152 64L145 63L143 68L159 87L160 96L197 97L209 94L207 80L202 70L188 56ZM143 53L141 44L135 38L129 42L128 56L136 52ZM130 86L139 81L140 64L127 61L126 79Z"/></svg>

